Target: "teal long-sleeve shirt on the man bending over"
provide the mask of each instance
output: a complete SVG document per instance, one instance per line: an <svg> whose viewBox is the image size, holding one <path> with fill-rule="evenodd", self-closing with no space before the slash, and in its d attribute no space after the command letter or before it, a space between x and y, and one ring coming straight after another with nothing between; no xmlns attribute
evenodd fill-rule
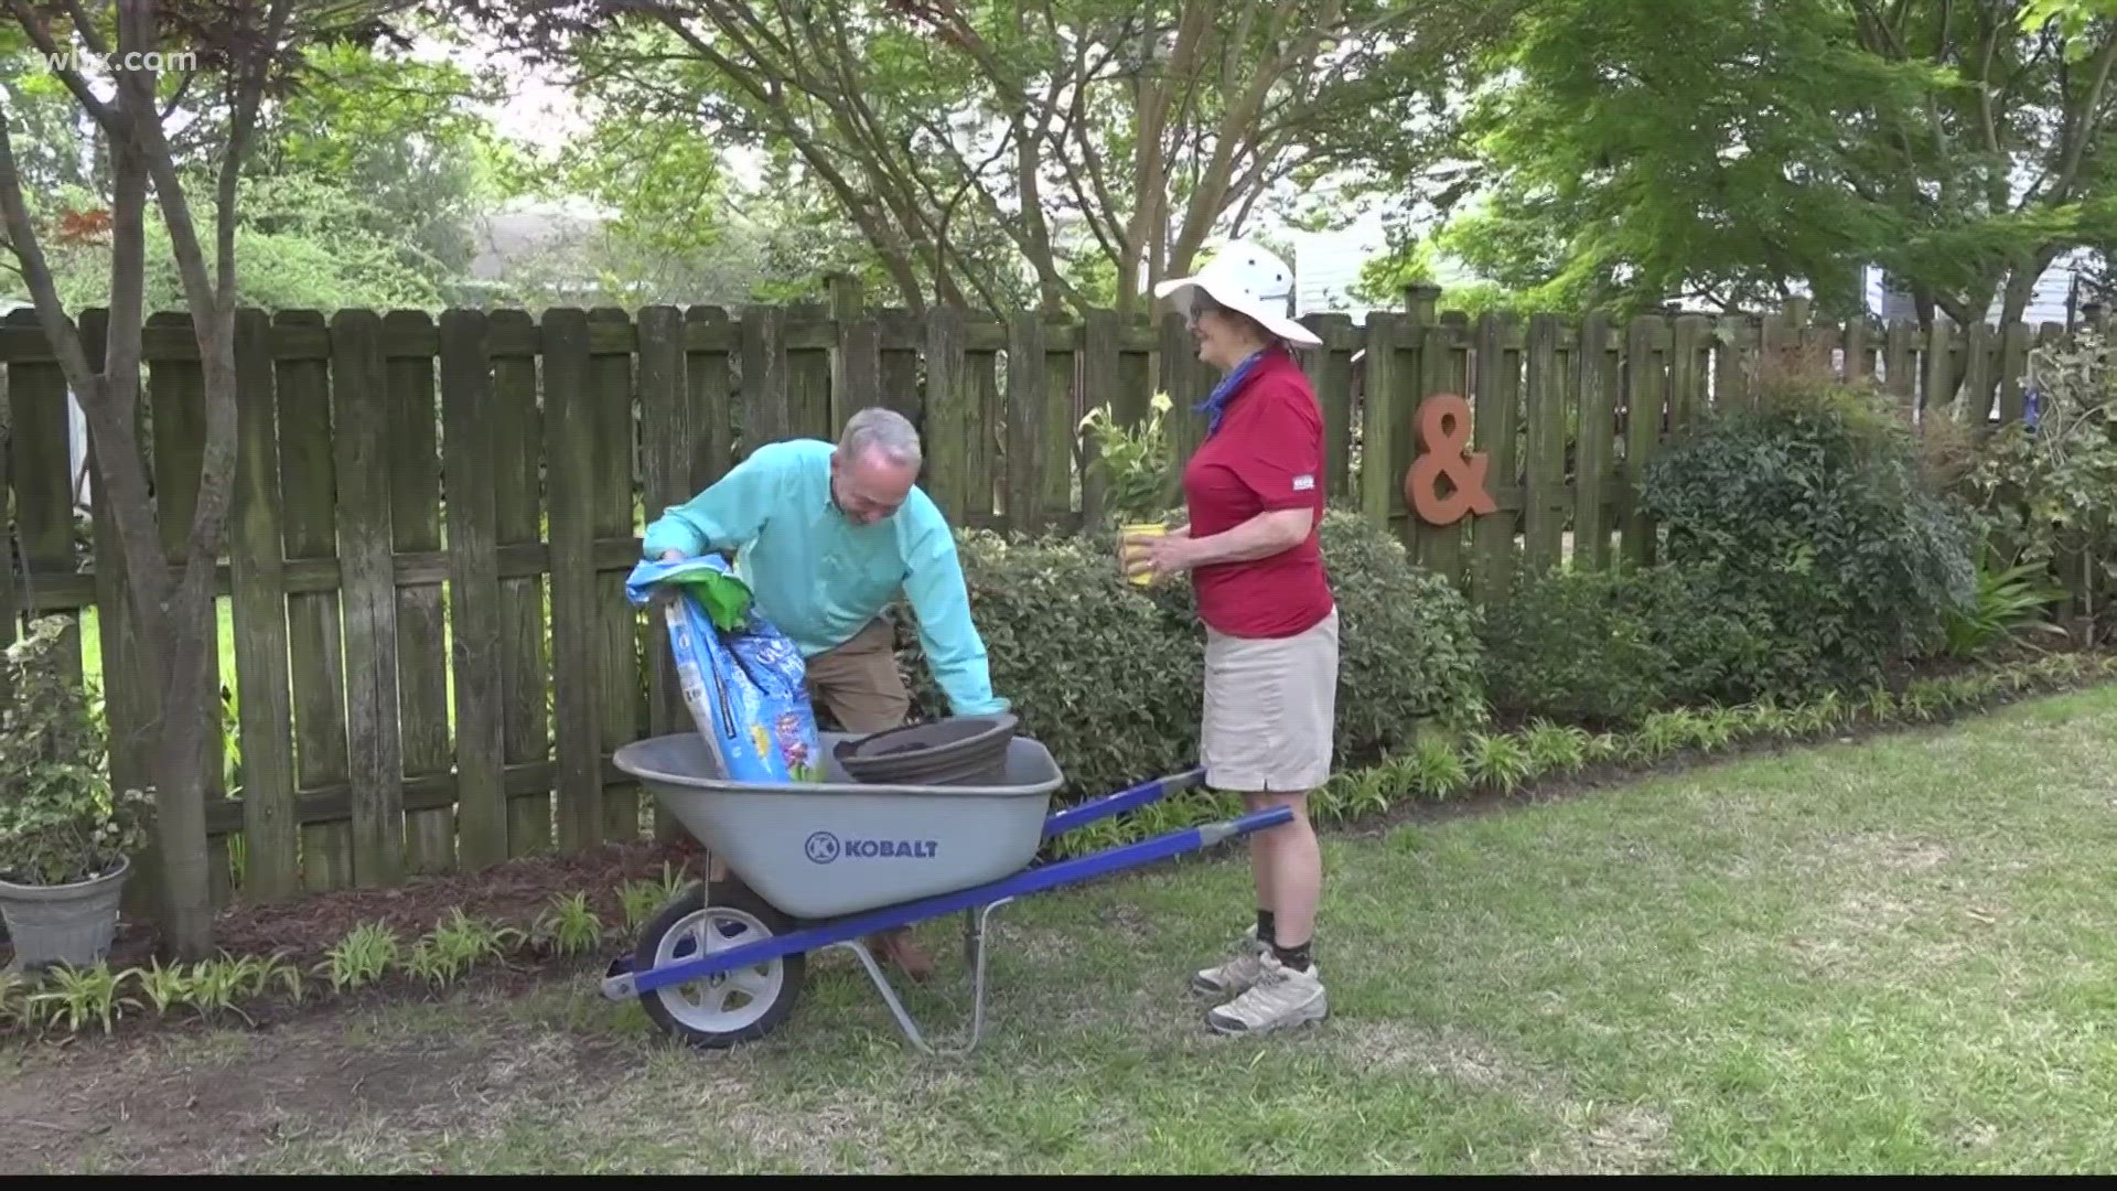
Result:
<svg viewBox="0 0 2117 1191"><path fill-rule="evenodd" d="M919 619L934 680L959 716L1008 710L993 695L984 640L970 619L970 593L955 536L934 500L912 487L895 513L860 526L830 498L832 445L817 439L768 443L686 504L648 526L641 555L737 551L735 572L758 610L802 657L845 644L902 589Z"/></svg>

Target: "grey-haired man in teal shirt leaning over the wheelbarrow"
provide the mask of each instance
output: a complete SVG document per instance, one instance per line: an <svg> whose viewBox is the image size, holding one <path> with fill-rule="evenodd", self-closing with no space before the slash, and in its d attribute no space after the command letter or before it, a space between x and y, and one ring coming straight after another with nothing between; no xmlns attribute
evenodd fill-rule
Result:
<svg viewBox="0 0 2117 1191"><path fill-rule="evenodd" d="M862 409L836 447L817 439L758 447L648 526L641 553L682 559L737 549L735 572L758 610L800 646L811 695L845 731L891 729L910 712L883 615L900 589L948 708L1006 712L970 621L955 536L917 487L919 460L910 422ZM902 932L883 943L912 975L929 966Z"/></svg>

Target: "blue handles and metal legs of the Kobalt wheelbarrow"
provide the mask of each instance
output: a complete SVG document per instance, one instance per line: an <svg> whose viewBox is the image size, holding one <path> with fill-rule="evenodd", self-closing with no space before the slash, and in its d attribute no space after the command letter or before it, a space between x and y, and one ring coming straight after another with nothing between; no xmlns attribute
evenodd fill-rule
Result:
<svg viewBox="0 0 2117 1191"><path fill-rule="evenodd" d="M1166 778L1156 778L1152 782L1141 782L1133 788L1118 790L1114 795L1105 795L1086 803L1052 812L1044 820L1044 839L1052 839L1056 835L1075 831L1080 826L1086 826L1090 822L1109 816L1139 810L1175 790L1196 786L1202 780L1205 780L1205 769L1194 767L1183 774L1173 774ZM874 954L868 949L864 939L883 930L910 926L915 922L927 922L951 913L963 913L965 958L972 962L976 971L974 992L972 992L974 1009L972 1009L970 1043L953 1053L967 1053L976 1049L978 1041L984 1036L987 932L995 909L1027 894L1046 892L1080 882L1090 882L1126 869L1139 869L1145 865L1154 865L1158 860L1166 860L1171 856L1211 848L1228 839L1249 835L1253 831L1283 826L1291 820L1293 812L1289 807L1274 805L1236 818L1209 822L1200 826L1186 826L1181 831L1169 831L1152 839L1141 839L1118 848L1105 848L1088 856L1073 856L1069 860L1052 860L1052 863L1031 863L1029 867L997 882L942 892L919 901L885 905L879 909L847 913L840 918L824 918L824 920L796 918L790 920L794 924L792 930L785 932L773 930L766 939L760 939L756 943L743 943L737 947L728 947L724 952L707 952L692 958L671 960L658 966L650 966L648 971L637 971L637 952L635 952L610 964L601 981L601 992L605 998L614 1002L646 1000L654 996L658 990L671 985L718 977L735 973L739 968L766 964L773 960L796 958L809 952L821 952L826 947L847 947L849 952L860 956L862 966L874 981L876 992L881 992L883 1000L889 1005L889 1011L891 1015L895 1015L898 1026L904 1030L904 1036L925 1053L942 1053L925 1041L925 1036L919 1032L919 1026L904 1011L904 1002L898 998L889 979L883 975L883 966L874 960ZM781 996L792 998L796 992L798 988L792 988ZM728 1045L728 1041L716 1038L703 1045Z"/></svg>

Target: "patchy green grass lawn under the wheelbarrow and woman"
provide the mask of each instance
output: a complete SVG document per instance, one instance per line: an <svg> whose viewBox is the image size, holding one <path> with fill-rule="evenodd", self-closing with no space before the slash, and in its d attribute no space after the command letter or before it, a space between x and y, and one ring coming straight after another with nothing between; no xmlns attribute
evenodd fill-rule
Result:
<svg viewBox="0 0 2117 1191"><path fill-rule="evenodd" d="M970 1060L908 1051L838 952L779 1034L726 1055L661 1045L584 962L256 1034L0 1051L23 1138L0 1166L2104 1170L2111 742L2117 687L1332 835L1336 1013L1304 1034L1215 1038L1183 994L1251 911L1222 856L1001 909ZM925 932L951 960L953 926ZM929 1032L953 1007L967 981L912 998Z"/></svg>

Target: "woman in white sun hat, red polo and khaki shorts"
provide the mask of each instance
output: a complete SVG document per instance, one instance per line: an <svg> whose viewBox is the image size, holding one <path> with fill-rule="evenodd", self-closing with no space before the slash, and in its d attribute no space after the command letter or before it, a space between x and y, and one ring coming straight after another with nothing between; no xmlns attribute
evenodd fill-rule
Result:
<svg viewBox="0 0 2117 1191"><path fill-rule="evenodd" d="M1222 371L1200 405L1207 437L1183 468L1190 523L1162 538L1126 538L1126 570L1190 574L1205 621L1207 784L1249 810L1293 807L1293 822L1249 837L1257 924L1232 962L1192 988L1228 996L1207 1013L1224 1034L1319 1021L1323 981L1310 958L1323 858L1308 790L1329 778L1338 693L1338 606L1319 549L1323 417L1289 352L1321 345L1264 295L1291 290L1268 252L1232 244L1196 278L1156 286L1179 295L1198 358Z"/></svg>

